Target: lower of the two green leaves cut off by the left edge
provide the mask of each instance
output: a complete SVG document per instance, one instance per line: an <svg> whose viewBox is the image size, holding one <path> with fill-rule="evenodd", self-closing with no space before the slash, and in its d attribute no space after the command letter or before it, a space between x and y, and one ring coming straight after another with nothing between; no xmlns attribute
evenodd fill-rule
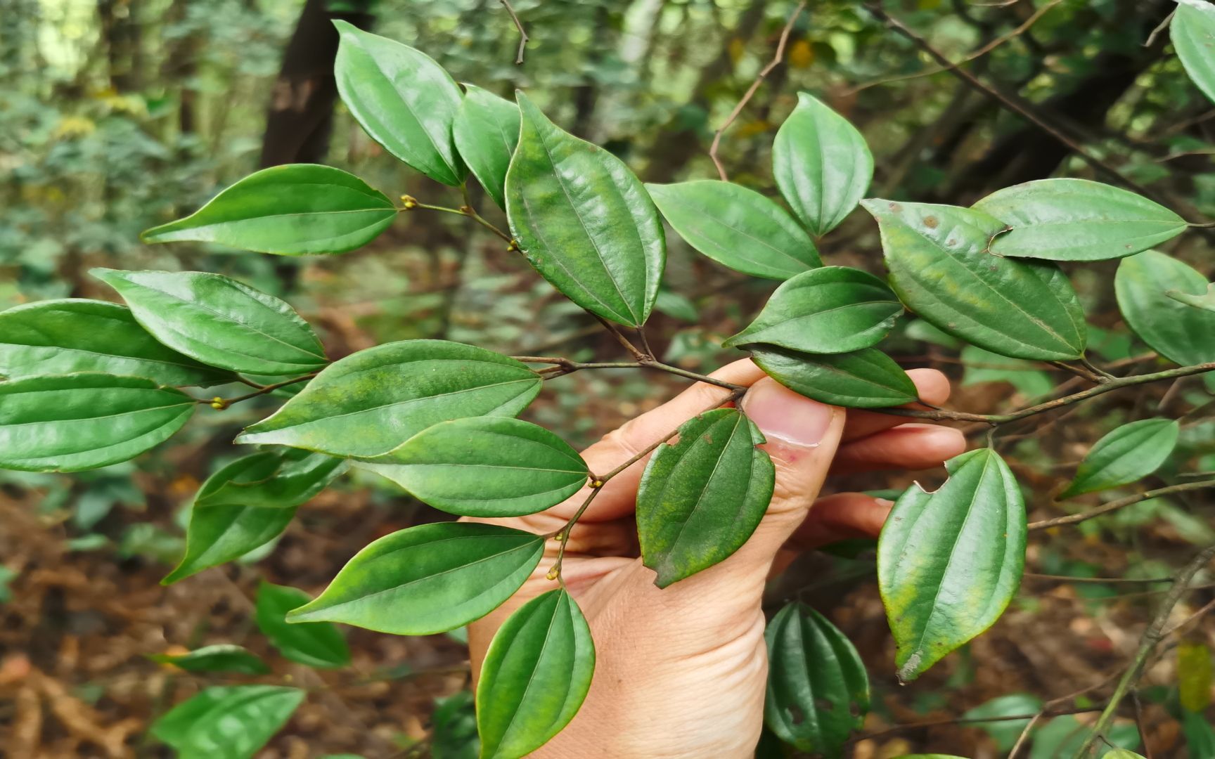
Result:
<svg viewBox="0 0 1215 759"><path fill-rule="evenodd" d="M0 469L80 471L168 440L198 403L152 380L112 374L0 383Z"/></svg>

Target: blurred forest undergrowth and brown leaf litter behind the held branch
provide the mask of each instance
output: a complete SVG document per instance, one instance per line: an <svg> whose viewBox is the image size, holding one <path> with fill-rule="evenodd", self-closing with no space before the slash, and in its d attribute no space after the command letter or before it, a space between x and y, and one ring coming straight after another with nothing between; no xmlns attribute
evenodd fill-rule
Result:
<svg viewBox="0 0 1215 759"><path fill-rule="evenodd" d="M390 197L457 205L366 137L337 102L329 18L423 50L457 80L510 96L525 87L558 123L604 145L650 182L714 177L707 155L793 10L789 0L515 0L531 41L497 0L5 0L0 23L0 308L47 298L112 298L92 266L224 272L287 298L317 324L334 358L389 340L441 336L504 353L614 356L597 324L559 298L496 238L445 215L411 214L367 249L284 259L209 245L146 247L140 231L188 214L220 188L282 163L354 171ZM1165 0L886 0L989 86L1028 104L1056 132L1147 185L1193 221L1215 217L1215 109L1189 84L1168 34ZM772 193L775 129L810 91L847 115L876 159L871 196L968 204L1007 185L1095 174L1049 131L940 70L861 4L819 0L795 24L785 62L727 131L733 181ZM474 192L482 213L492 203ZM1215 273L1210 231L1169 251ZM668 362L708 369L775 283L735 274L668 236L667 290L651 341ZM854 214L823 244L824 259L880 271L876 227ZM1106 364L1145 353L1113 304L1117 261L1069 271ZM959 383L953 406L1019 404L1068 380L1051 367L959 345L908 322L883 350ZM575 444L669 397L667 375L580 373L529 412ZM1062 424L1017 430L999 444L1033 487L1030 519L1058 512L1050 494L1087 446L1164 409L1182 413L1182 442L1162 474L1215 470L1215 421L1202 379L1145 386L1074 407ZM265 410L265 409L262 409ZM78 476L0 474L0 731L13 757L159 755L142 737L173 703L214 681L145 655L209 642L264 652L249 622L259 578L310 591L371 539L442 519L372 477L347 478L300 510L286 536L242 566L169 589L198 482L232 460L234 431L255 409L202 418L134 464ZM939 482L942 472L923 475ZM906 475L852 477L838 489L898 491ZM1151 481L1148 482L1151 485ZM1128 491L1129 492L1129 491ZM1124 493L1125 494L1125 493ZM1113 494L1114 497L1118 493ZM1091 497L1090 497L1091 498ZM1081 529L1039 536L1029 568L1050 576L1168 576L1188 546L1215 542L1215 504L1200 493L1148 500ZM1206 587L1215 578L1205 579ZM804 557L773 588L798 595L858 642L871 665L875 709L855 757L937 750L1006 752L1023 723L929 724L1035 712L1044 699L1100 681L1134 650L1165 585L1027 577L994 630L929 676L897 689L892 645L864 553ZM1199 589L1185 614L1211 599ZM1188 611L1187 611L1188 610ZM1210 622L1165 650L1140 692L1145 737L1164 757L1215 757ZM315 673L278 662L322 692L266 755L475 755L465 653L458 636L349 634L354 662ZM1194 653L1197 651L1197 653ZM1177 657L1198 665L1181 667ZM1205 657L1205 658L1203 658ZM1205 668L1202 662L1205 661ZM1086 701L1087 699L1087 701ZM1087 696L1064 708L1091 706ZM1064 757L1076 716L1042 723L1034 758ZM4 727L7 724L9 727ZM1011 733L1008 729L1016 726ZM1130 729L1135 736L1134 726ZM1134 741L1132 741L1134 742ZM1206 742L1206 743L1204 743ZM1074 747L1073 747L1074 748ZM394 753L403 752L403 753ZM411 753L412 752L412 753Z"/></svg>

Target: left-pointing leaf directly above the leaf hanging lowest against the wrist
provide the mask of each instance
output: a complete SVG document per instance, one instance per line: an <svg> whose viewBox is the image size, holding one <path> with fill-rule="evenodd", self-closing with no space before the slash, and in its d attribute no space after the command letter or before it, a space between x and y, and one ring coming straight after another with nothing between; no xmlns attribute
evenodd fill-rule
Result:
<svg viewBox="0 0 1215 759"><path fill-rule="evenodd" d="M324 593L289 619L328 619L394 635L442 633L501 606L543 554L541 536L497 525L401 529L355 554Z"/></svg>

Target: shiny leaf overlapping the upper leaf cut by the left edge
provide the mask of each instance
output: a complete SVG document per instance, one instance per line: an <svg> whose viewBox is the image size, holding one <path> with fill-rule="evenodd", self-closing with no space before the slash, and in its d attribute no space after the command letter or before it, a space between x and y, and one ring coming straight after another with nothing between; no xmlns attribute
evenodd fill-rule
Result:
<svg viewBox="0 0 1215 759"><path fill-rule="evenodd" d="M273 295L208 272L89 272L118 290L160 342L203 363L254 374L306 374L327 363L309 323Z"/></svg>

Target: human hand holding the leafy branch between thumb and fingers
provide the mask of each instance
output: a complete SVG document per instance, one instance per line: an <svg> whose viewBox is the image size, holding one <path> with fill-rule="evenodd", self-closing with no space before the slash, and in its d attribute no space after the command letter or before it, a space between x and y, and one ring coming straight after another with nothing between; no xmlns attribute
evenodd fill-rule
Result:
<svg viewBox="0 0 1215 759"><path fill-rule="evenodd" d="M932 369L909 372L920 398L939 404L949 381ZM573 721L533 757L582 759L729 759L751 757L763 723L768 674L764 583L797 553L852 537L876 537L889 502L861 493L819 499L829 474L927 469L965 451L961 432L802 397L764 376L750 359L713 376L748 386L741 401L763 431L776 469L768 511L734 555L666 589L642 565L634 504L646 459L612 477L570 531L561 577L595 641L595 673ZM642 414L583 452L590 471L628 461L729 391L697 384ZM552 533L588 489L552 509L510 519L475 519ZM546 574L559 543L549 540L532 577L503 606L469 628L479 673L495 631L514 610L552 590Z"/></svg>

